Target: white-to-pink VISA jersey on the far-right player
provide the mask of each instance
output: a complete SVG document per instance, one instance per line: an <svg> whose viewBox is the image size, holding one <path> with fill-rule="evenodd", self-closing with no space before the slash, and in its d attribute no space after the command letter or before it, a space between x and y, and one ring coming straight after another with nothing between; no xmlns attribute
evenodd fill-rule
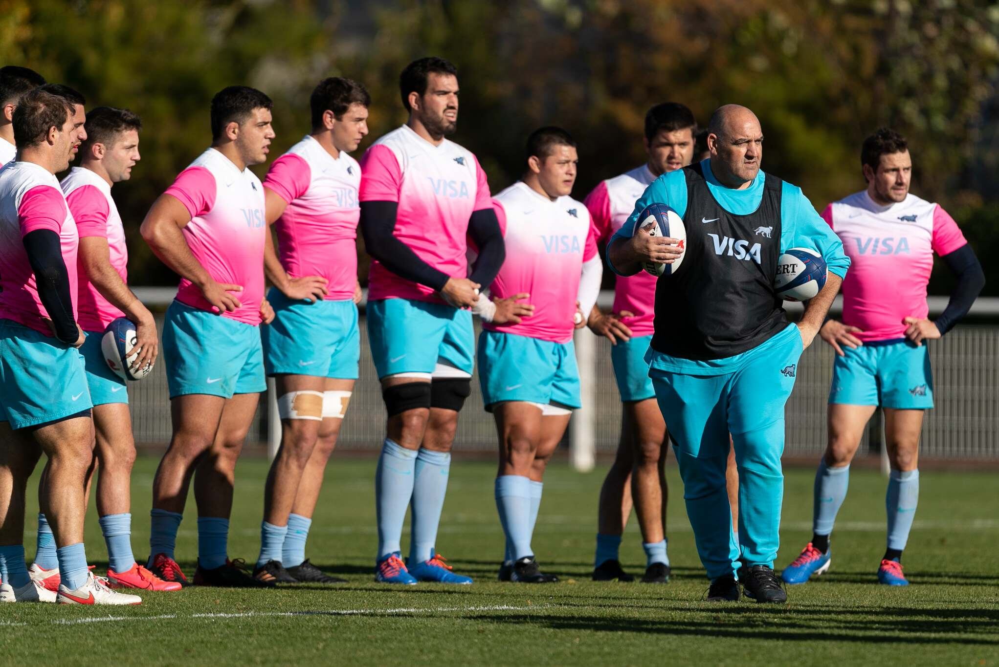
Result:
<svg viewBox="0 0 999 667"><path fill-rule="evenodd" d="M862 330L861 340L904 337L904 318L925 318L933 253L948 255L968 243L946 211L912 194L881 206L867 191L854 193L827 206L822 218L850 258L843 323Z"/></svg>

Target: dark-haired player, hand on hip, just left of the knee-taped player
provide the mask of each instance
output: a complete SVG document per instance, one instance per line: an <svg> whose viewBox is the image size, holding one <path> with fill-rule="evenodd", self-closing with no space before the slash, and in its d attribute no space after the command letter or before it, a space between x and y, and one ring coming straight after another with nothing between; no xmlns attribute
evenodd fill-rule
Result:
<svg viewBox="0 0 999 667"><path fill-rule="evenodd" d="M173 436L153 481L147 567L189 582L174 558L194 477L198 567L194 583L261 587L227 553L236 459L267 387L260 325L268 234L264 186L251 165L267 160L271 99L230 86L212 98L212 146L153 204L142 237L181 276L163 326Z"/></svg>

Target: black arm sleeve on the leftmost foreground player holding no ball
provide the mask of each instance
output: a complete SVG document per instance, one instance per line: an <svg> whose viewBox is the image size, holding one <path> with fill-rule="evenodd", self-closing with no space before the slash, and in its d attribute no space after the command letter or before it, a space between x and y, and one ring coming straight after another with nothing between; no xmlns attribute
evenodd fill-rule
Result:
<svg viewBox="0 0 999 667"><path fill-rule="evenodd" d="M73 297L59 235L52 230L35 230L24 235L23 243L35 272L38 298L52 320L56 337L70 344L76 342L80 333L73 319Z"/></svg>

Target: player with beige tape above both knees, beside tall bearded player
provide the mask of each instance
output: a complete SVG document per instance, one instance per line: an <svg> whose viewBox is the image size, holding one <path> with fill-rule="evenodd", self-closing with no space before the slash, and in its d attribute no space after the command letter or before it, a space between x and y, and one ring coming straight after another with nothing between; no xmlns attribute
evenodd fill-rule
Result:
<svg viewBox="0 0 999 667"><path fill-rule="evenodd" d="M270 235L264 257L275 318L261 332L275 376L281 447L264 491L264 581L337 583L306 558L306 539L327 460L358 378L357 239L361 168L349 153L368 134L364 86L324 79L310 99L312 132L271 165L264 180Z"/></svg>

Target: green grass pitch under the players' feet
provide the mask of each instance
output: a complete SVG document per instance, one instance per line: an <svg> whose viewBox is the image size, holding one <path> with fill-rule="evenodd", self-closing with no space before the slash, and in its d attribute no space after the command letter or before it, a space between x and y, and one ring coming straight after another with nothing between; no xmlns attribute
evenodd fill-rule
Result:
<svg viewBox="0 0 999 667"><path fill-rule="evenodd" d="M350 583L268 591L191 588L144 594L136 607L0 607L0 660L17 664L905 664L999 663L999 483L992 471L926 471L905 554L911 584L876 583L884 549L886 480L854 470L832 543L828 574L791 587L781 606L701 601L707 588L694 550L675 466L668 469L669 557L664 586L589 580L596 498L603 469L549 468L533 546L561 582L496 581L502 536L493 499L495 466L457 456L438 540L472 586L379 585L374 459L335 456L307 555ZM150 487L157 460L133 476L136 555L148 549ZM672 461L670 461L670 464ZM256 560L267 462L237 471L229 552ZM811 469L786 473L778 570L811 535ZM29 490L29 496L34 489ZM29 500L30 504L34 504ZM93 502L91 503L93 505ZM29 517L34 516L29 508ZM196 552L194 499L178 539L190 577ZM34 553L33 520L25 535ZM408 531L408 528L407 528ZM408 532L404 546L408 543ZM98 572L106 554L97 516L87 551ZM633 517L621 549L640 574Z"/></svg>

